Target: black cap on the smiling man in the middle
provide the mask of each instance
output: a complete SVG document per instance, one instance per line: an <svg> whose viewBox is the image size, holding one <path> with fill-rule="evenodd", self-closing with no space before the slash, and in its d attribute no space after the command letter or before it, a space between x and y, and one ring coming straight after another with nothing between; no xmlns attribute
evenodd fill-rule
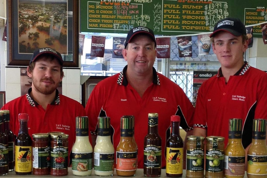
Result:
<svg viewBox="0 0 267 178"><path fill-rule="evenodd" d="M138 27L135 27L129 30L125 43L124 43L125 48L128 45L128 43L133 39L133 37L137 34L145 34L151 37L151 39L155 42L155 46L156 46L156 39L155 39L154 32L150 28L138 26Z"/></svg>

